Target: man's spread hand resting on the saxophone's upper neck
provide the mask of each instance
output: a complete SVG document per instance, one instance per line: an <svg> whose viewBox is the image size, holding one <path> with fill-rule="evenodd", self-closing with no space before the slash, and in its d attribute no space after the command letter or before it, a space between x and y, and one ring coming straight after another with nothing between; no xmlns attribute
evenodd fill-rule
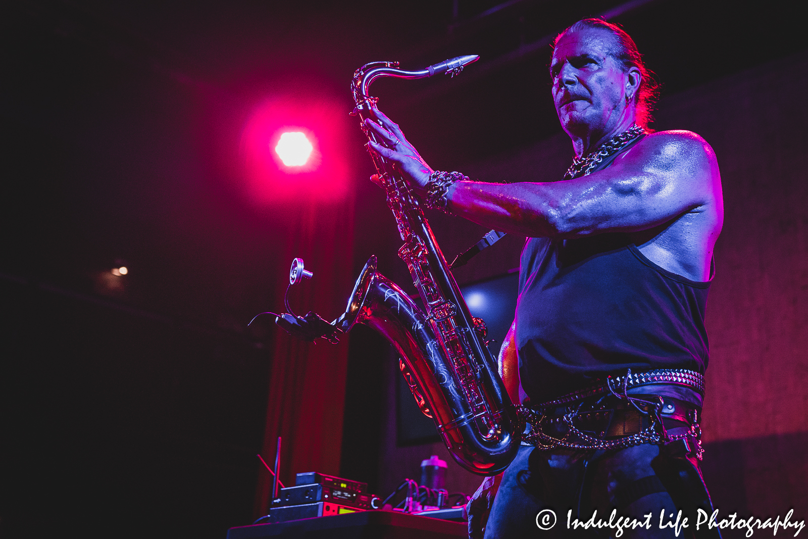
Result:
<svg viewBox="0 0 808 539"><path fill-rule="evenodd" d="M371 110L376 121L368 119L364 120L364 124L373 133L376 133L381 141L385 141L386 146L368 142L368 149L389 162L393 162L393 166L410 183L410 187L415 193L423 196L429 175L432 173L431 167L423 160L418 150L406 140L398 124L393 123L377 108ZM375 178L371 179L376 181Z"/></svg>

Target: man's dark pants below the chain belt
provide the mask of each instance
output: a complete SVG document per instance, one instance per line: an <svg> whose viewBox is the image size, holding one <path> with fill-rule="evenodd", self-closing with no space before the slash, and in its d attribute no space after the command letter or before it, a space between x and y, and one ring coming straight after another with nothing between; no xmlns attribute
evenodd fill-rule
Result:
<svg viewBox="0 0 808 539"><path fill-rule="evenodd" d="M694 537L696 508L709 515L709 497L696 459L668 453L663 448L660 454L659 446L653 444L612 452L541 451L522 446L503 474L485 537L675 538L675 528L667 524L675 523L680 509L682 519L688 518L688 527L681 528L678 537ZM689 479L684 477L687 473ZM697 484L693 483L694 475ZM617 513L612 526L620 517L624 517L621 523L629 517L629 523L636 519L642 526L623 528L619 536L614 527L574 528L575 519L586 523L595 511L595 524L599 520L608 524L613 509ZM703 525L695 537L706 537ZM716 530L712 537L718 537Z"/></svg>

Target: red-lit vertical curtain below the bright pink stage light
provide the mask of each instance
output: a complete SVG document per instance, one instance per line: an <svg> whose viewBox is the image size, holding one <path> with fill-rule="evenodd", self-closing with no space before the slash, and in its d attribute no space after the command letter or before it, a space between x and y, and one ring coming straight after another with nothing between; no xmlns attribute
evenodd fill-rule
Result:
<svg viewBox="0 0 808 539"><path fill-rule="evenodd" d="M288 267L301 257L314 279L290 290L292 309L298 315L314 310L333 320L345 310L356 276L352 275L353 201L326 204L305 201L288 222L288 233L278 263ZM288 280L276 289L278 310ZM280 311L279 311L280 312ZM294 484L295 474L339 474L343 434L343 410L347 375L347 335L333 345L320 339L304 343L280 328L270 368L269 402L262 456L275 460L276 440L282 436L280 480ZM256 516L266 515L271 502L272 477L259 473L255 498Z"/></svg>

